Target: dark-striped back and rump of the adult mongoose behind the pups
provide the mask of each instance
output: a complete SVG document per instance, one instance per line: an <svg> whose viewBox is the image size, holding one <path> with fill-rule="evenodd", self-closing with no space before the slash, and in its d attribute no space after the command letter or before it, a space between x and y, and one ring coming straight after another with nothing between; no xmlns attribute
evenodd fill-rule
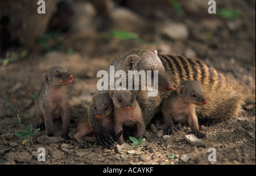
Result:
<svg viewBox="0 0 256 176"><path fill-rule="evenodd" d="M199 81L204 87L209 103L196 107L197 117L204 125L213 125L218 121L232 118L245 104L255 105L255 87L232 81L199 60L182 56L158 56L174 89L189 79ZM164 102L168 93L159 92L159 96Z"/></svg>

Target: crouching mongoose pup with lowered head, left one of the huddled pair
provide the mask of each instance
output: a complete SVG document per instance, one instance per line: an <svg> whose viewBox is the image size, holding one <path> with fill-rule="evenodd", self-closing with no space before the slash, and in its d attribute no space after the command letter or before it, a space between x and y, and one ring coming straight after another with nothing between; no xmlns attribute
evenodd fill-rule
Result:
<svg viewBox="0 0 256 176"><path fill-rule="evenodd" d="M89 147L88 143L96 143L96 137L89 137L88 135L93 132L92 125L90 124L88 116L93 121L98 121L111 135L114 133L114 121L113 121L113 101L109 97L109 91L98 91L92 97L92 103L90 103L88 109L88 115L86 115L80 123L77 125L75 132L75 139L81 146Z"/></svg>

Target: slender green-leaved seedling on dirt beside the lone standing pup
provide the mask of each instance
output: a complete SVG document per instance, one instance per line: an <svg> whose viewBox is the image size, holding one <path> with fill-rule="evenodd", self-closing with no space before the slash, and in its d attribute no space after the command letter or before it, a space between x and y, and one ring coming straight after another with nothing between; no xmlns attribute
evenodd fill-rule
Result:
<svg viewBox="0 0 256 176"><path fill-rule="evenodd" d="M7 99L8 103L10 104L11 110L13 110L14 117L10 115L11 118L13 118L15 121L17 121L17 123L19 124L19 128L21 130L21 131L16 131L14 134L17 135L17 136L24 137L24 140L23 140L22 144L25 144L25 143L27 143L30 140L31 140L31 142L33 144L32 137L35 135L35 133L37 131L40 130L40 128L34 129L34 131L32 131L32 123L31 123L30 125L28 125L27 131L25 132L23 130L23 128L22 128L21 123L20 123L19 115L16 114L16 112L14 111L13 105L11 104L10 100L7 98L7 96L6 96L6 94L4 92L3 92L3 95L5 95L5 98Z"/></svg>

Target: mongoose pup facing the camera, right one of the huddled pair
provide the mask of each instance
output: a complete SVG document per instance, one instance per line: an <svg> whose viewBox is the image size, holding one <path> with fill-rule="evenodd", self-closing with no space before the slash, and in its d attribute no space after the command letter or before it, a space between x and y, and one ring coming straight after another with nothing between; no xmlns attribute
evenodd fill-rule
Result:
<svg viewBox="0 0 256 176"><path fill-rule="evenodd" d="M109 95L114 103L114 133L118 135L123 131L123 125L133 127L136 125L134 137L138 138L146 132L146 125L142 118L142 111L136 100L137 91L110 90ZM117 144L124 143L123 135L117 140Z"/></svg>

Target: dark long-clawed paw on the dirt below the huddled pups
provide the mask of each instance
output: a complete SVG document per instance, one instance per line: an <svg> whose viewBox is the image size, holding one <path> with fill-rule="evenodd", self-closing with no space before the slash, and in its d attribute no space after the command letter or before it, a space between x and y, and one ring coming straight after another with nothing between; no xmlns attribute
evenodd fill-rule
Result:
<svg viewBox="0 0 256 176"><path fill-rule="evenodd" d="M103 146L113 148L112 146L116 145L115 141L113 140L113 137L109 134L109 132L106 129L97 132L95 135L98 143Z"/></svg>

